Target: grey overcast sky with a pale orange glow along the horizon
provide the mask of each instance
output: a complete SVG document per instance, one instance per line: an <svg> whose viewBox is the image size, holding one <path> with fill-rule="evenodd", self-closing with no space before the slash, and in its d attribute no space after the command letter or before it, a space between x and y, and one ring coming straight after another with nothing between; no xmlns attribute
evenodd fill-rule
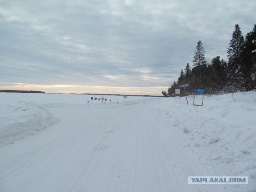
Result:
<svg viewBox="0 0 256 192"><path fill-rule="evenodd" d="M161 95L201 40L227 59L255 0L0 0L0 89Z"/></svg>

